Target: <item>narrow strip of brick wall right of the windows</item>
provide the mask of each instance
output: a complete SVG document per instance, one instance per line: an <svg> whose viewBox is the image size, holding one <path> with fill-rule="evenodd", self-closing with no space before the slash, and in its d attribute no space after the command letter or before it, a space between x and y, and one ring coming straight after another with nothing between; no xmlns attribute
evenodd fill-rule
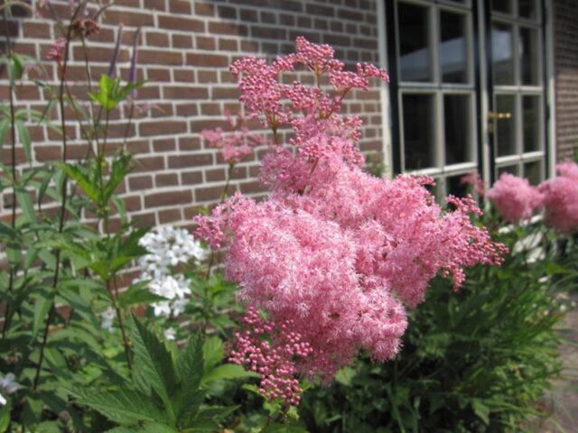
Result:
<svg viewBox="0 0 578 433"><path fill-rule="evenodd" d="M578 2L554 1L556 146L559 161L578 149Z"/></svg>

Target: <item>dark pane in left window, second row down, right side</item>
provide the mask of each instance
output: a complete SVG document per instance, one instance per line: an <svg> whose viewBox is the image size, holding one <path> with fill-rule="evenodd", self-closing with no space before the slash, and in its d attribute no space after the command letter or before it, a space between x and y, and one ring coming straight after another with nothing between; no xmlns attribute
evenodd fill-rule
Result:
<svg viewBox="0 0 578 433"><path fill-rule="evenodd" d="M471 161L470 116L470 97L467 95L443 97L446 164Z"/></svg>

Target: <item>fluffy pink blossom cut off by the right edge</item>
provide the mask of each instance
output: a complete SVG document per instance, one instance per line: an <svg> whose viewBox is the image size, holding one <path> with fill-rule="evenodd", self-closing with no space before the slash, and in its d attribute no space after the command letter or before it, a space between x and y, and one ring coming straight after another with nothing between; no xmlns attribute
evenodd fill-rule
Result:
<svg viewBox="0 0 578 433"><path fill-rule="evenodd" d="M556 166L558 176L539 186L544 195L545 223L560 233L578 232L578 164Z"/></svg>

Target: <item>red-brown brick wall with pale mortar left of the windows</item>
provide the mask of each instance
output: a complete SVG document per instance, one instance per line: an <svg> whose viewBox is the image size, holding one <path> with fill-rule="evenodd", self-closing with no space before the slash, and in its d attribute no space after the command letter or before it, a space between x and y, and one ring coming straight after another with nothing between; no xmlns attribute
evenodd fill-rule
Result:
<svg viewBox="0 0 578 433"><path fill-rule="evenodd" d="M58 2L52 2L59 5ZM128 149L135 155L136 168L123 186L127 210L144 224L190 221L199 205L219 199L225 184L226 165L217 152L201 143L200 130L223 124L223 108L236 112L238 91L228 72L232 60L257 55L273 58L293 51L294 38L330 43L337 57L348 63L378 62L376 4L371 0L117 0L102 20L98 35L89 41L92 74L106 72L114 51L117 26L123 23L123 44L118 72L126 77L130 44L136 26L142 26L138 72L148 84L139 90L140 102L154 110L135 119L128 134ZM67 3L61 3L66 11ZM65 12L62 12L65 13ZM1 26L1 24L0 24ZM44 57L56 28L48 19L21 16L9 24L15 51ZM4 39L0 39L0 44ZM71 51L69 77L83 77L82 47ZM53 82L56 71L45 67ZM5 71L0 71L0 96L5 100ZM86 95L85 83L70 85L79 97ZM18 106L40 107L42 92L25 83ZM382 148L378 88L353 94L346 104L350 113L361 114L364 127L361 149ZM113 136L110 149L122 143L126 113L111 116ZM79 127L69 126L70 156L81 157L86 144ZM36 161L57 159L58 136L42 127L32 129ZM4 158L7 157L5 147ZM24 161L22 149L18 160ZM257 194L258 161L240 164L234 173L233 189ZM11 199L2 198L6 214Z"/></svg>

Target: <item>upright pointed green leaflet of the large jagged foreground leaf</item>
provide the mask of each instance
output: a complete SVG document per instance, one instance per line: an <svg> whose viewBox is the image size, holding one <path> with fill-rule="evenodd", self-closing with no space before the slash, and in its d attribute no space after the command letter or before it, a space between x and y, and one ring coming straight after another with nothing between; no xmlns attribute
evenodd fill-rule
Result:
<svg viewBox="0 0 578 433"><path fill-rule="evenodd" d="M135 386L148 396L151 396L151 390L154 390L174 415L170 396L176 390L177 385L171 354L158 336L134 316L131 327L135 353L135 368L133 369Z"/></svg>

